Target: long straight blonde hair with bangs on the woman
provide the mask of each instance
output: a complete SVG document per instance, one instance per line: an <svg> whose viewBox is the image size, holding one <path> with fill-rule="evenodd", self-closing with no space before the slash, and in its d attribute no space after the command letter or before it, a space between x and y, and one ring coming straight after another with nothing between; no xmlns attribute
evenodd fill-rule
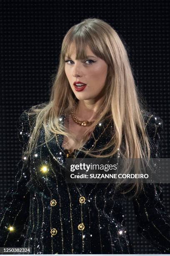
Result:
<svg viewBox="0 0 170 256"><path fill-rule="evenodd" d="M82 20L67 31L62 41L57 74L52 77L50 100L38 108L32 107L29 112L29 115L36 114L36 123L29 139L27 158L35 146L41 125L45 129L48 140L52 139L50 138L50 132L54 136L55 134L62 134L67 138L74 138L67 128L60 124L59 120L61 115L70 113L78 101L65 74L65 55L70 56L72 42L76 45L76 59L86 59L85 49L88 45L91 51L108 65L104 85L104 101L100 108L100 114L95 122L89 126L89 129L93 129L100 120L105 118L112 118L114 123L114 134L110 143L103 145L103 148L97 151L83 149L83 145L89 136L89 130L86 130L78 145L79 150L86 153L87 156L105 158L116 154L117 148L119 148L120 157L123 159L150 159L149 141L142 115L142 112L147 110L144 109L142 102L144 100L135 86L127 51L117 32L108 23L98 18ZM93 133L92 136L94 137ZM122 138L124 139L123 147ZM113 149L109 154L92 154L102 152L112 146ZM136 172L139 173L140 170ZM142 189L141 185L142 183L137 181L130 190L136 187L137 193L139 187Z"/></svg>

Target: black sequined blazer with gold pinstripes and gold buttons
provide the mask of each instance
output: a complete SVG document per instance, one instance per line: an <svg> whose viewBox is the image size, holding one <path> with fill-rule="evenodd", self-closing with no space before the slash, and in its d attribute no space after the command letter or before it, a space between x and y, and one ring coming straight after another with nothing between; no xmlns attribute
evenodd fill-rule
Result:
<svg viewBox="0 0 170 256"><path fill-rule="evenodd" d="M60 122L64 121L62 115ZM110 141L111 126L111 120L96 125L93 133L99 148ZM25 112L18 127L25 149L30 136L30 118ZM152 157L159 157L163 121L147 114L145 127ZM0 247L30 247L32 254L134 253L122 210L127 196L115 190L114 184L66 183L63 136L43 144L45 139L41 128L28 164L24 158L18 163L0 213ZM93 143L91 136L85 148ZM86 156L80 152L77 157ZM138 233L161 253L170 253L170 215L165 212L161 184L144 184L133 205Z"/></svg>

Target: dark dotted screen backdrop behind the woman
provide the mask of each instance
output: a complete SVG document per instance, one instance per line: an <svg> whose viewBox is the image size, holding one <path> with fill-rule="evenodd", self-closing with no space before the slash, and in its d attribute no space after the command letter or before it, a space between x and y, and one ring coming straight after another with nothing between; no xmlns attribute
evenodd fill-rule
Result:
<svg viewBox="0 0 170 256"><path fill-rule="evenodd" d="M16 124L26 108L49 99L62 39L85 18L109 23L125 43L137 87L150 109L163 119L163 158L170 158L169 0L4 0L0 1L1 154L0 207L13 184L21 157ZM170 213L170 185L164 184ZM136 253L158 253L136 234L131 202L125 205L128 230Z"/></svg>

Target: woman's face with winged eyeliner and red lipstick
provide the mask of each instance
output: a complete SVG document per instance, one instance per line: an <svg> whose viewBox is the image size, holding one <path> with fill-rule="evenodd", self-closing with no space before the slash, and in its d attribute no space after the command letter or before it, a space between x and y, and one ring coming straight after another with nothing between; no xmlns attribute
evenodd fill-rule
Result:
<svg viewBox="0 0 170 256"><path fill-rule="evenodd" d="M65 74L72 91L78 100L95 100L103 96L103 87L107 77L107 63L95 56L87 46L87 59L75 60L74 44L71 46L70 59L65 56ZM74 82L86 84L84 87L76 87Z"/></svg>

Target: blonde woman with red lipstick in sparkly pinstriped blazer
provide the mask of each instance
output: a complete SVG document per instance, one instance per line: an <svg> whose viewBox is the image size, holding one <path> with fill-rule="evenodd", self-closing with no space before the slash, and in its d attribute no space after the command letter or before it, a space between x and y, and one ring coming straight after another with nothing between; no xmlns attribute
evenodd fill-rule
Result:
<svg viewBox="0 0 170 256"><path fill-rule="evenodd" d="M67 157L159 157L161 131L163 121L138 98L116 31L96 18L70 28L50 101L20 117L23 158L0 215L0 246L35 254L133 253L122 211L132 197L138 232L170 252L160 184L67 184L64 175Z"/></svg>

